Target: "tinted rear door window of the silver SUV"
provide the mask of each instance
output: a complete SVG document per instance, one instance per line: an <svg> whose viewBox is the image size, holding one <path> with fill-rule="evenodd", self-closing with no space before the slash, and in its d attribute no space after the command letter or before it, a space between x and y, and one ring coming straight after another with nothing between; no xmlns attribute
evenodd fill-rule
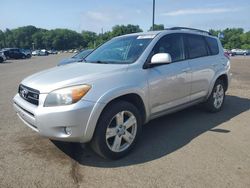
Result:
<svg viewBox="0 0 250 188"><path fill-rule="evenodd" d="M207 45L203 36L187 35L189 58L207 56Z"/></svg>

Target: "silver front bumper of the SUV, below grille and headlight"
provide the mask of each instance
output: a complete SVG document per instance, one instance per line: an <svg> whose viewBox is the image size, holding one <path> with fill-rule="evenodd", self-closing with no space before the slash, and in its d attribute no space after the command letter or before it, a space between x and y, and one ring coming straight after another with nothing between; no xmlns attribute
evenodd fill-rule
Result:
<svg viewBox="0 0 250 188"><path fill-rule="evenodd" d="M88 142L92 138L96 121L90 118L98 119L93 115L96 104L81 100L68 106L43 107L25 101L19 94L13 99L14 109L26 125L42 136L70 142ZM65 132L66 127L71 129L70 135Z"/></svg>

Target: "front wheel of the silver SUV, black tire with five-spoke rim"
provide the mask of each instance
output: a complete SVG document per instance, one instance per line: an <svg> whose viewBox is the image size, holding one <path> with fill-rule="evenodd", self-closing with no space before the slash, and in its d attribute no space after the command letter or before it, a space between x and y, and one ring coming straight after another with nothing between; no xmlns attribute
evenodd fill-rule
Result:
<svg viewBox="0 0 250 188"><path fill-rule="evenodd" d="M126 101L111 103L98 120L91 147L104 158L122 158L134 148L141 124L140 113L133 104Z"/></svg>

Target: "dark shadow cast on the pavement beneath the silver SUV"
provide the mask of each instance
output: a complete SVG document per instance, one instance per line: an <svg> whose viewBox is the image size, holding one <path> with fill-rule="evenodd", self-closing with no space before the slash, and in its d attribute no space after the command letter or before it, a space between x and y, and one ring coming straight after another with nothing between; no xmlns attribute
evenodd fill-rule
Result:
<svg viewBox="0 0 250 188"><path fill-rule="evenodd" d="M216 127L249 109L250 99L227 96L224 109L219 113L207 113L195 106L152 120L144 126L136 148L128 156L117 161L102 159L89 147L81 144L52 142L81 165L103 168L129 166L164 157L206 131L228 134L229 130Z"/></svg>

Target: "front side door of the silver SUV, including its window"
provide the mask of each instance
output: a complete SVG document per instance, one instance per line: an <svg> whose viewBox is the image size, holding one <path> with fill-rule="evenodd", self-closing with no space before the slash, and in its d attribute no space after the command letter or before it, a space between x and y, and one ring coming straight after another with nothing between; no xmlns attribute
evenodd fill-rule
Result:
<svg viewBox="0 0 250 188"><path fill-rule="evenodd" d="M191 73L185 60L182 34L168 34L161 38L151 57L157 53L169 53L172 62L147 69L152 116L189 102L191 91Z"/></svg>

